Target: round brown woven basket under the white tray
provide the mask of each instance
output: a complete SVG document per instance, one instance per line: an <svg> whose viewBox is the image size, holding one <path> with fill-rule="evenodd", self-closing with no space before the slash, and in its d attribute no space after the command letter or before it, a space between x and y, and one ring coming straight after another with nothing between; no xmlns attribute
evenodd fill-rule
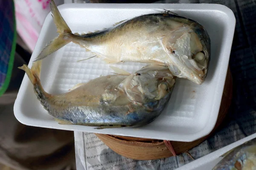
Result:
<svg viewBox="0 0 256 170"><path fill-rule="evenodd" d="M233 92L233 82L232 75L230 73L230 68L227 71L227 78L224 86L224 92L221 99L221 106L218 114L218 119L212 132L193 142L177 142L171 141L175 153L178 155L184 153L193 147L197 146L201 142L204 142L209 136L211 136L219 125L224 120L227 111L231 104ZM144 138L134 138L127 136L114 136L105 134L96 134L99 139L102 140L108 147L110 147L116 153L131 159L139 160L151 160L160 159L173 156L168 150L163 140L157 139L144 139Z"/></svg>

